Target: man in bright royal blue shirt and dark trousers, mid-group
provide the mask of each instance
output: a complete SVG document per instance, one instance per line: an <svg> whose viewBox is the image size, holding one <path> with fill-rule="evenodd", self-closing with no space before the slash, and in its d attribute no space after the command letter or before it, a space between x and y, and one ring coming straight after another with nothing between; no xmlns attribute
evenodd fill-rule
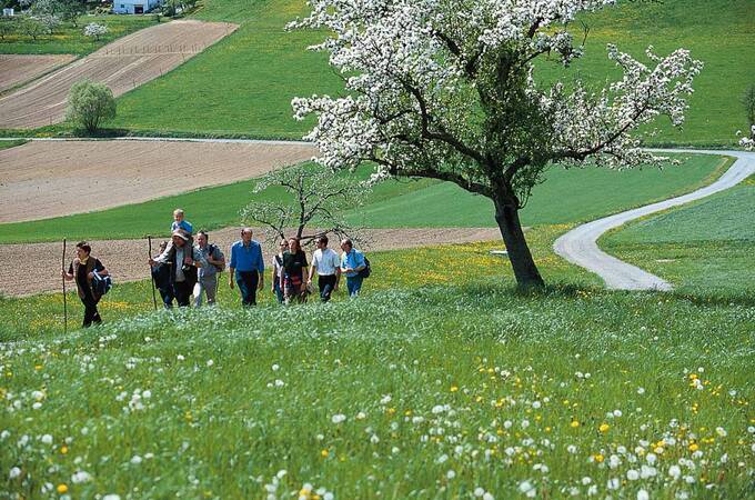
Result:
<svg viewBox="0 0 755 500"><path fill-rule="evenodd" d="M231 271L229 286L233 289L235 279L244 306L256 306L256 291L264 287L264 261L262 247L252 240L252 228L241 230L241 240L231 246Z"/></svg>

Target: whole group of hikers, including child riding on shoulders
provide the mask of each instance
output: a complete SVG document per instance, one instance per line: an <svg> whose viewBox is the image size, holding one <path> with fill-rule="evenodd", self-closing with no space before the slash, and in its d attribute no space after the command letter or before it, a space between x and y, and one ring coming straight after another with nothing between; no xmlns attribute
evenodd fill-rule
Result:
<svg viewBox="0 0 755 500"><path fill-rule="evenodd" d="M152 279L160 292L163 307L202 306L203 297L208 304L217 302L218 282L221 273L229 268L229 287L239 288L241 302L245 307L256 304L256 293L264 288L264 260L261 244L252 239L251 228L241 230L241 239L230 248L230 262L210 236L202 230L194 238L193 227L185 220L183 210L173 212L171 239L160 244L160 253L150 257ZM350 239L341 241L339 256L328 247L326 236L315 239L316 250L311 263L301 248L299 238L281 239L278 253L272 259L270 291L280 303L304 302L314 292L313 279L316 273L320 300L328 302L339 289L341 276L345 276L349 296L359 296L362 281L370 272L370 262L364 254L354 249ZM108 277L108 270L99 259L91 257L91 247L81 241L77 244L77 257L63 279L76 280L79 298L84 304L83 327L100 323L102 320L97 304L104 293L98 287L99 280Z"/></svg>

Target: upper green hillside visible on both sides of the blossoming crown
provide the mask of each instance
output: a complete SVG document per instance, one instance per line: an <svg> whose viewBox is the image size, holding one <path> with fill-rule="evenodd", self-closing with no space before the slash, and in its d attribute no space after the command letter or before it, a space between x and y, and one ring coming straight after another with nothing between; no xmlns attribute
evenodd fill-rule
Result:
<svg viewBox="0 0 755 500"><path fill-rule="evenodd" d="M302 0L208 0L200 19L242 23L232 37L187 64L119 100L115 127L204 133L300 138L311 122L291 119L294 96L336 93L340 82L325 58L304 48L321 37L285 33L282 27L305 12ZM731 143L745 127L739 96L753 83L749 37L755 6L749 0L667 0L624 2L587 19L587 56L566 79L581 76L602 83L616 76L605 43L642 57L648 44L661 53L692 49L706 63L696 81L689 119L682 132L656 141ZM538 74L554 77L550 64Z"/></svg>

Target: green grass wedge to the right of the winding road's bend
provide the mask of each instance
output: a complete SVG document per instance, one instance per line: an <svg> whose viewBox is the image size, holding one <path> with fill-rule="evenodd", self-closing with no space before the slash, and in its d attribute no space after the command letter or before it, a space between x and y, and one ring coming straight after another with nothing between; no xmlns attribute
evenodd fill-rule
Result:
<svg viewBox="0 0 755 500"><path fill-rule="evenodd" d="M755 178L723 193L631 223L601 240L620 259L681 293L737 290L755 297Z"/></svg>

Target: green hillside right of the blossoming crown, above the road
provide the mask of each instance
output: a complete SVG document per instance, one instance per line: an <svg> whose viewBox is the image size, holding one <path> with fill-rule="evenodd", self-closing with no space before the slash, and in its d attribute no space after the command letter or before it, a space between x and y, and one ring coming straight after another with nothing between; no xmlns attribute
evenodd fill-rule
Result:
<svg viewBox="0 0 755 500"><path fill-rule="evenodd" d="M737 130L747 128L741 100L755 84L755 3L751 0L625 1L618 9L588 18L588 23L587 56L574 67L585 80L617 78L605 57L608 42L641 60L651 44L663 56L683 47L705 63L695 79L684 129L663 126L653 142L726 144L734 142Z"/></svg>

